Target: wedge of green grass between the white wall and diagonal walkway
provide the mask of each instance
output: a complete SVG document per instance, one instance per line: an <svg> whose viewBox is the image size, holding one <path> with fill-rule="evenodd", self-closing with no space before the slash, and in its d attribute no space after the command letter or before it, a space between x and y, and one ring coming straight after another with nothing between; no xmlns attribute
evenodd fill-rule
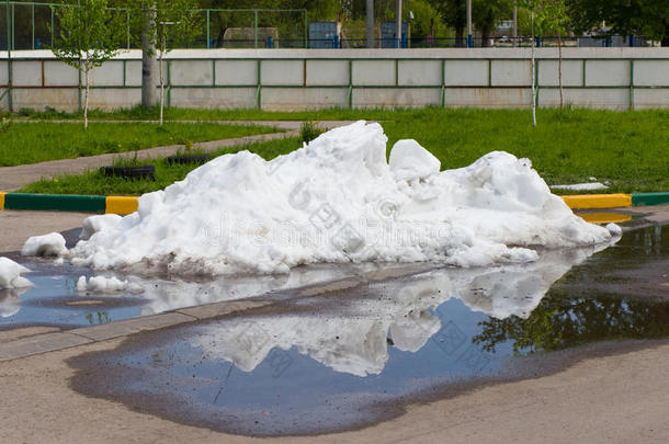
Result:
<svg viewBox="0 0 669 444"><path fill-rule="evenodd" d="M107 152L124 152L165 145L226 139L279 129L250 125L211 123L19 123L0 130L0 167L68 159Z"/></svg>

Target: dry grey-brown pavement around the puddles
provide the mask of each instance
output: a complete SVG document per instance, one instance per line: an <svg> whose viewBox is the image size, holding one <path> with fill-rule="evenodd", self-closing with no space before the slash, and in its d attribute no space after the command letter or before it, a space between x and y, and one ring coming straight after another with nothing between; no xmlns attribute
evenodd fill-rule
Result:
<svg viewBox="0 0 669 444"><path fill-rule="evenodd" d="M669 223L669 205L633 210L647 215L648 224ZM0 251L14 250L27 236L78 227L86 216L0 212ZM37 221L39 225L32 225ZM77 371L68 360L92 351L113 350L145 331L201 322L220 315L245 316L246 310L265 304L270 303L217 303L69 331L25 328L0 332L0 442L261 442L144 413L140 401L127 406L83 396L71 388ZM402 415L362 430L271 441L669 442L669 343L625 343L611 349L615 351L578 355L567 368L548 376L405 405Z"/></svg>

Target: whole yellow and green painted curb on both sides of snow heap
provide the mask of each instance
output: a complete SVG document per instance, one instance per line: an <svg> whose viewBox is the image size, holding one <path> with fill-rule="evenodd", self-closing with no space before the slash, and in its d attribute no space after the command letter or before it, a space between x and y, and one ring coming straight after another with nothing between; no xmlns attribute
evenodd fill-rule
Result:
<svg viewBox="0 0 669 444"><path fill-rule="evenodd" d="M579 194L562 196L571 209L627 208L669 203L669 192L635 194ZM33 209L127 215L137 210L135 196L83 196L0 192L0 210Z"/></svg>

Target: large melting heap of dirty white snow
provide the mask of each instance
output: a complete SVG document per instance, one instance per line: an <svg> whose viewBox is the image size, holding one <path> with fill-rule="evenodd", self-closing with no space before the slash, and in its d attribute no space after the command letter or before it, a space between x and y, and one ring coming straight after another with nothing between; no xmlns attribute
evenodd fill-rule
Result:
<svg viewBox="0 0 669 444"><path fill-rule="evenodd" d="M279 273L318 262L528 262L532 248L608 242L575 216L526 159L494 151L440 172L415 140L386 161L387 137L364 121L272 161L218 157L70 251L94 269L175 274Z"/></svg>

